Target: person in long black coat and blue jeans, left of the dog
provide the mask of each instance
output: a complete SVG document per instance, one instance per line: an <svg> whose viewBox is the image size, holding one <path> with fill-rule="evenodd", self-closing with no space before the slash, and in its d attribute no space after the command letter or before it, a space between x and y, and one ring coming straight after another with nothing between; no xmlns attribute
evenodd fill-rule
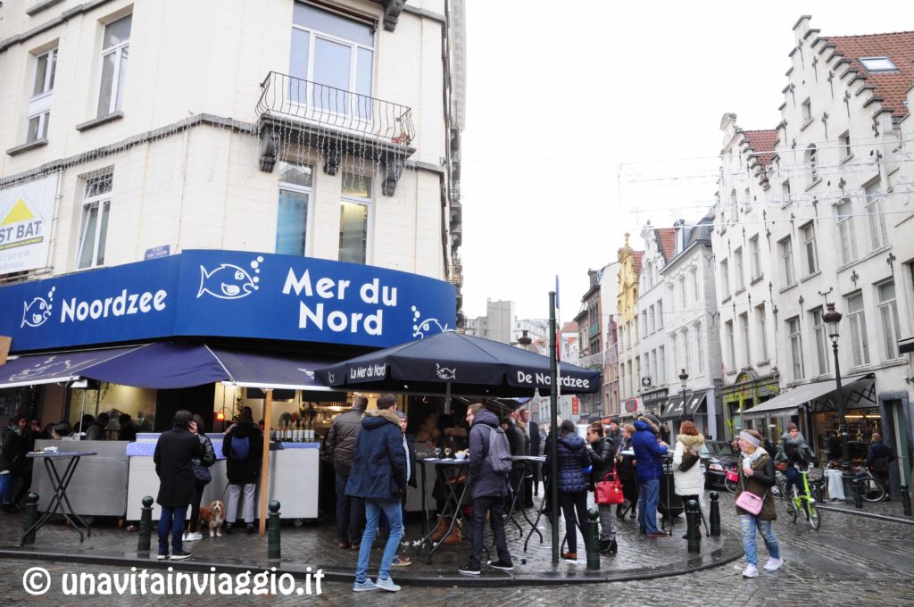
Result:
<svg viewBox="0 0 914 607"><path fill-rule="evenodd" d="M203 456L200 442L193 432L197 425L190 411L179 410L172 419L172 429L162 432L155 443L153 462L159 477L156 503L162 507L159 515L159 559L168 558L168 534L172 536L172 560L190 557L184 551L182 536L187 506L197 496L191 460Z"/></svg>

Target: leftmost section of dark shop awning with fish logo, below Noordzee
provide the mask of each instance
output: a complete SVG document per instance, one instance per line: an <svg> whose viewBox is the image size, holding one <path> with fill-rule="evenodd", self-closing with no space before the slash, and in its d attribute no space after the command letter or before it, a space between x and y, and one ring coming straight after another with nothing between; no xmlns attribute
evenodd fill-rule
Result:
<svg viewBox="0 0 914 607"><path fill-rule="evenodd" d="M76 350L14 358L0 366L0 389L73 381L83 377L82 370L122 357L139 347Z"/></svg>

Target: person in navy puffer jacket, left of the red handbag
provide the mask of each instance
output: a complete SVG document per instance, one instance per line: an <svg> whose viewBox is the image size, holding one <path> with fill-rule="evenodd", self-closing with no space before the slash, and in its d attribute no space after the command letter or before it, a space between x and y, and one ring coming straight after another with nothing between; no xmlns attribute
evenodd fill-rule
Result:
<svg viewBox="0 0 914 607"><path fill-rule="evenodd" d="M588 473L590 454L584 439L575 431L574 421L562 421L558 433L558 504L565 517L565 534L569 540L568 552L562 559L578 560L578 521L587 521L587 489L590 485ZM550 464L550 448L547 447L546 465ZM583 527L581 527L583 529Z"/></svg>

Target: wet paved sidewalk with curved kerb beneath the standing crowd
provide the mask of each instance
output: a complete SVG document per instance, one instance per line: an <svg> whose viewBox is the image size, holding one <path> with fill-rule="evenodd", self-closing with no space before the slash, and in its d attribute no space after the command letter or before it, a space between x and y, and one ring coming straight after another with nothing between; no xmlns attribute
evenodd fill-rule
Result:
<svg viewBox="0 0 914 607"><path fill-rule="evenodd" d="M732 508L721 505L722 515ZM531 516L532 518L532 516ZM525 527L524 537L513 524L508 523L506 532L508 548L515 563L513 572L485 570L482 576L464 576L457 568L464 565L470 551L469 538L464 538L459 545L442 545L435 552L432 563L428 564L425 555L428 549L423 548L422 555L417 557L413 545L421 535L420 521L410 521L407 525L404 543L409 541L409 548L403 547L400 554L412 559L412 565L394 568L391 577L397 583L419 586L521 586L544 584L593 583L602 581L645 580L669 575L678 575L696 570L717 567L742 557L742 545L735 533L735 519L722 516L723 536L719 538L702 537L700 555L689 555L685 534L685 516L676 519L672 537L649 539L638 534L637 522L632 518L617 523L617 541L619 553L614 556L602 556L599 571L587 570L587 555L581 538L579 541L577 563L560 561L553 566L550 543L551 530L547 518L540 520L539 530L544 541L539 543L537 534L533 535L528 551L524 551L524 539L529 526L518 516L518 522ZM326 580L351 581L356 570L357 550L336 548L336 532L332 521L306 522L303 527L294 527L291 522L282 525L282 559L270 561L267 557L267 538L257 534L247 535L236 531L221 538L205 537L197 542L186 543L186 550L194 556L180 562L158 561L155 559L156 536L153 533L153 551L151 555L136 552L137 533L117 528L111 520L96 520L92 525L92 535L80 544L79 534L61 523L49 523L37 535L34 544L19 548L23 515L0 516L0 558L5 559L38 559L62 560L69 562L92 563L96 565L136 566L148 569L165 568L169 564L175 569L208 571L216 567L224 571L265 570L276 567L279 573L289 572L303 577L307 571L324 570ZM560 521L560 534L564 535L564 523ZM559 540L561 536L559 536ZM492 539L486 529L486 543ZM376 542L372 553L372 575L375 573L383 546ZM310 568L310 569L309 569Z"/></svg>

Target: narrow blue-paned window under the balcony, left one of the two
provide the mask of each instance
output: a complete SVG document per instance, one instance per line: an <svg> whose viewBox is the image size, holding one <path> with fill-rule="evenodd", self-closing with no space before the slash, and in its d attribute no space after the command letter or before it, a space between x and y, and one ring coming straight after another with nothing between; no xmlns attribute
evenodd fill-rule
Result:
<svg viewBox="0 0 914 607"><path fill-rule="evenodd" d="M276 252L282 255L303 256L307 254L314 169L309 165L281 162L279 175Z"/></svg>

